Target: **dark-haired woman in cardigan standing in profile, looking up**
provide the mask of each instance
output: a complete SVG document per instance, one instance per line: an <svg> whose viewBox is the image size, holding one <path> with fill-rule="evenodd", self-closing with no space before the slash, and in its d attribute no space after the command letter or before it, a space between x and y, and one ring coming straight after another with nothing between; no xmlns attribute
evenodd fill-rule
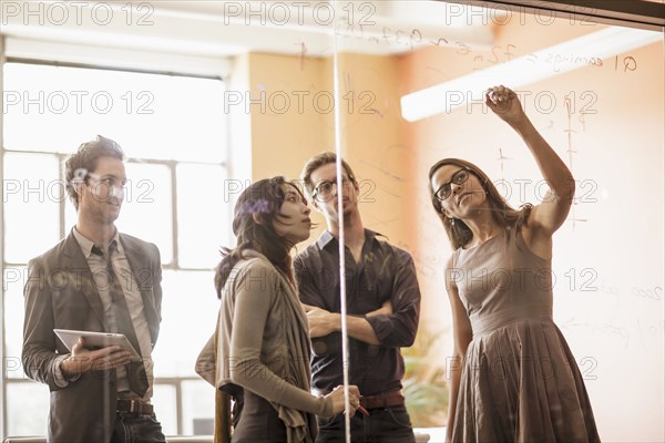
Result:
<svg viewBox="0 0 665 443"><path fill-rule="evenodd" d="M309 212L298 187L283 177L254 183L236 203L237 246L223 249L215 274L222 300L217 331L196 365L218 390L216 442L314 442L314 414L332 416L345 409L342 389L321 398L309 392L307 316L290 259L290 249L309 237ZM359 393L356 387L349 392L354 413ZM235 400L231 439L229 395Z"/></svg>

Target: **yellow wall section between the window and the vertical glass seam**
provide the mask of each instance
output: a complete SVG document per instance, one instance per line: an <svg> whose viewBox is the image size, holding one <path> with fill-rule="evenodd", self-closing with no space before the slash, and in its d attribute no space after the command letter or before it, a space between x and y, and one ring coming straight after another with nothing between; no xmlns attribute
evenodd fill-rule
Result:
<svg viewBox="0 0 665 443"><path fill-rule="evenodd" d="M313 154L334 150L334 121L325 59L249 54L253 100L265 91L265 106L250 104L252 178L298 178ZM316 94L318 100L315 100ZM326 111L330 110L329 113Z"/></svg>

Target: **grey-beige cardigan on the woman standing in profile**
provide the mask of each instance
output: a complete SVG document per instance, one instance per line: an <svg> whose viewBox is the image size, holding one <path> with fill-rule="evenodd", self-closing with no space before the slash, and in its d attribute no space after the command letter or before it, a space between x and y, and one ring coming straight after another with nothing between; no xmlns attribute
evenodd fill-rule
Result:
<svg viewBox="0 0 665 443"><path fill-rule="evenodd" d="M289 442L314 441L316 420L306 413L331 416L332 400L309 392L307 317L295 288L265 256L243 256L222 292L217 348L213 336L196 372L217 389L234 383L272 402Z"/></svg>

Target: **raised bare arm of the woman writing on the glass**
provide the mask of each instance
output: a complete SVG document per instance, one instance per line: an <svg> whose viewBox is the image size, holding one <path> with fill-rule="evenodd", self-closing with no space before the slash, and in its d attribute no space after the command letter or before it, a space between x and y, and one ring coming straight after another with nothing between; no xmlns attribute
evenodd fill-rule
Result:
<svg viewBox="0 0 665 443"><path fill-rule="evenodd" d="M573 196L575 181L565 163L533 126L518 95L504 86L485 91L485 103L522 137L533 154L543 178L550 186L543 202L536 205L529 217L529 229L536 237L548 239L565 222Z"/></svg>

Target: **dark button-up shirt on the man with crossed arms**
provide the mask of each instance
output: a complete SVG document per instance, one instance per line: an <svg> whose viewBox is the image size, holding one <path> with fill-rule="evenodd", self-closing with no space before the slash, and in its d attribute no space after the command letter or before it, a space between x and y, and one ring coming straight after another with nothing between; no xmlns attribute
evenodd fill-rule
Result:
<svg viewBox="0 0 665 443"><path fill-rule="evenodd" d="M294 260L300 301L330 312L340 311L339 246L329 233ZM349 337L349 382L364 395L401 389L405 362L400 347L413 343L420 313L420 289L413 259L406 250L365 230L365 245L356 262L346 249L347 313L364 317L390 300L392 315L367 318L380 344ZM341 336L311 339L313 387L330 391L342 384Z"/></svg>

